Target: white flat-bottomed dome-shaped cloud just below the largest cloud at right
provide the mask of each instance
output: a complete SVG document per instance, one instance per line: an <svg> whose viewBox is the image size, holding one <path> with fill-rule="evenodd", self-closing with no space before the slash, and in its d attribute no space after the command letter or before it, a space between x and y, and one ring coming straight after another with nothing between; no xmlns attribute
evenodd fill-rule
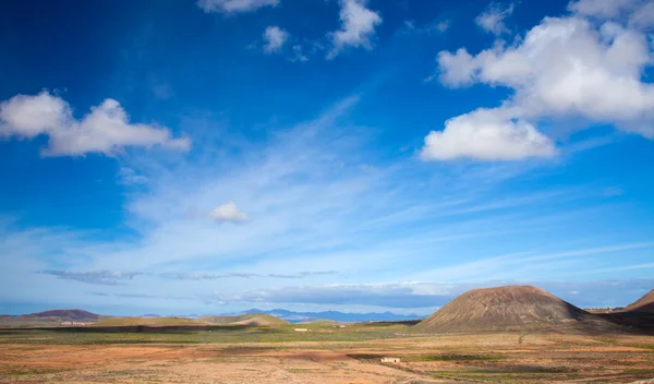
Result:
<svg viewBox="0 0 654 384"><path fill-rule="evenodd" d="M514 160L555 152L552 141L531 123L512 119L504 109L477 109L446 121L444 131L432 131L421 156L424 160Z"/></svg>

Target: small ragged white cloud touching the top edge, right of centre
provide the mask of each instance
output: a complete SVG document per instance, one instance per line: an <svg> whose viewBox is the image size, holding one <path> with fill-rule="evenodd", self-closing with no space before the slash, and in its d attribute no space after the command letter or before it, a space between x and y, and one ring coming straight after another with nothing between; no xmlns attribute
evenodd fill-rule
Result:
<svg viewBox="0 0 654 384"><path fill-rule="evenodd" d="M347 47L373 48L371 37L382 24L382 16L365 8L365 0L341 0L340 21L341 28L330 34L334 47L327 59L334 59Z"/></svg>

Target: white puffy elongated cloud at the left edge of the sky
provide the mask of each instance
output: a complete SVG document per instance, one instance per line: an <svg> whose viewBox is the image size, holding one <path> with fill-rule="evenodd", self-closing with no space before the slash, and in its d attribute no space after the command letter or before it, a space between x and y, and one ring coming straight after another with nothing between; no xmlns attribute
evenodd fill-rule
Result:
<svg viewBox="0 0 654 384"><path fill-rule="evenodd" d="M125 146L161 145L187 151L186 137L173 139L170 130L130 123L120 104L106 99L92 107L82 120L73 117L70 105L44 91L36 96L16 95L0 104L0 134L33 139L49 137L46 156L77 156L87 153L111 155Z"/></svg>

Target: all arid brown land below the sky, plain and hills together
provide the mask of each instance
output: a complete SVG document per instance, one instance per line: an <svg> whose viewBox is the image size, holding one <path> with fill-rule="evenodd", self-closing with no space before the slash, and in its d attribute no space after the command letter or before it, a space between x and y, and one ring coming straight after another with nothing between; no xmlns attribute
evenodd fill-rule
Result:
<svg viewBox="0 0 654 384"><path fill-rule="evenodd" d="M653 296L591 313L536 287L475 289L396 323L28 315L0 329L0 383L650 383Z"/></svg>

